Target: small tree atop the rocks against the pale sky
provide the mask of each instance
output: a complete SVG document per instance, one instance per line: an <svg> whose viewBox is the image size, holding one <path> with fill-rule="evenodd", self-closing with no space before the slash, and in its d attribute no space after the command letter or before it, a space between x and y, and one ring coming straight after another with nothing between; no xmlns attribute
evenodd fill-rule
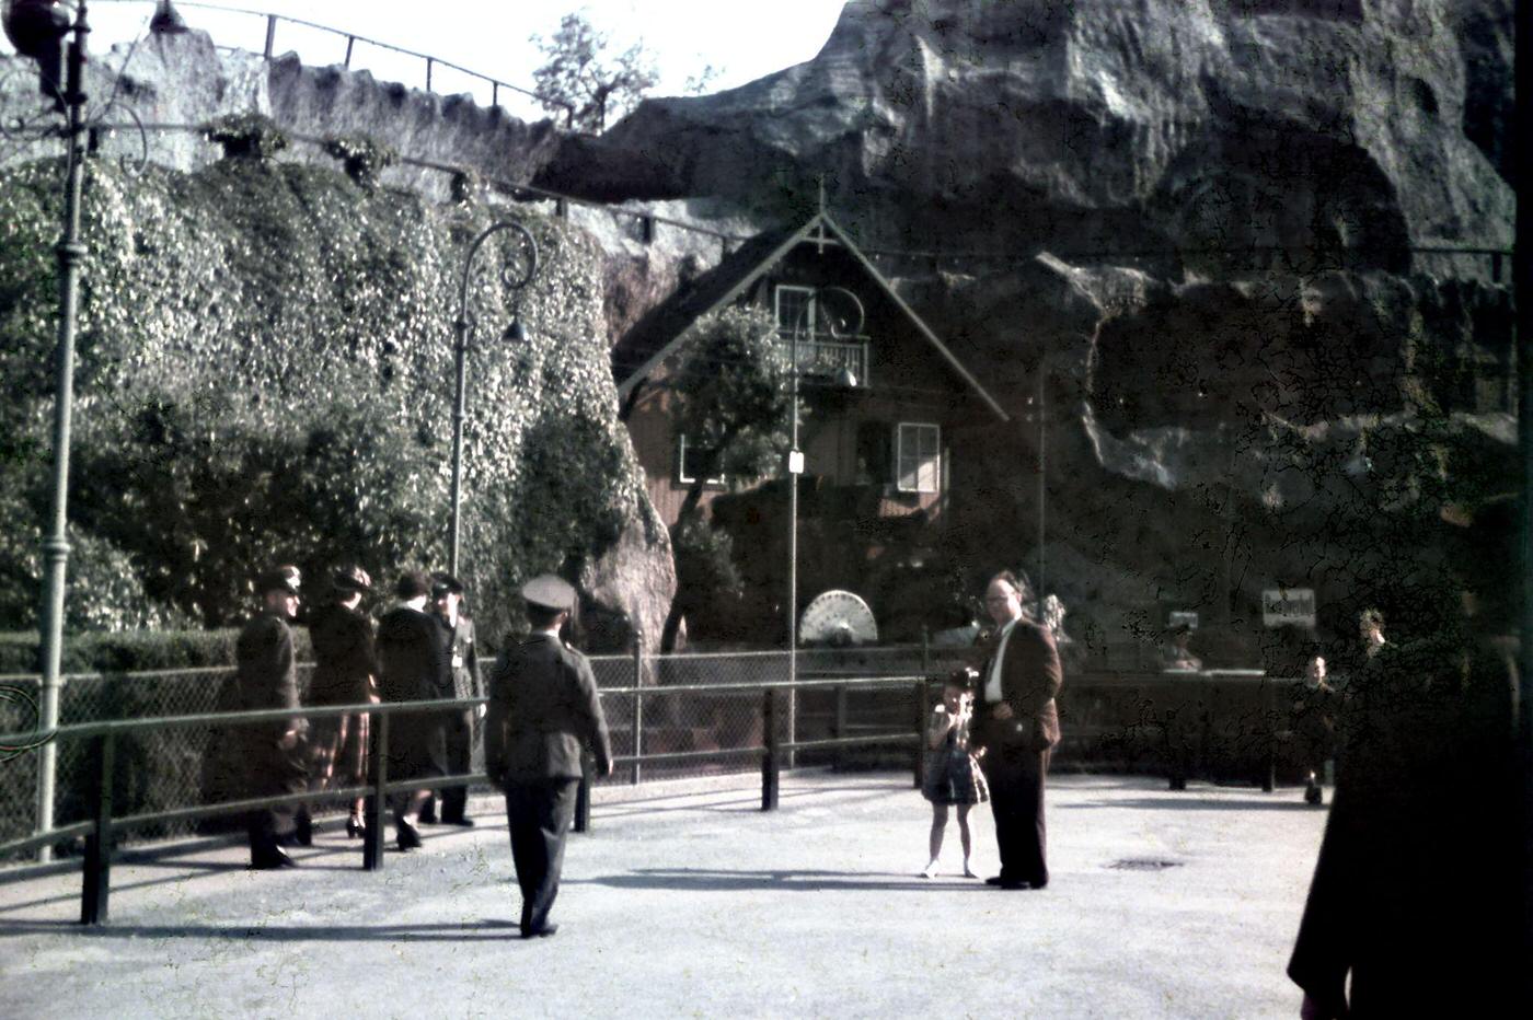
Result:
<svg viewBox="0 0 1533 1020"><path fill-rule="evenodd" d="M659 81L642 43L610 57L607 41L579 14L566 14L553 38L532 37L547 58L532 72L532 92L570 130L604 130L609 113L621 118Z"/></svg>

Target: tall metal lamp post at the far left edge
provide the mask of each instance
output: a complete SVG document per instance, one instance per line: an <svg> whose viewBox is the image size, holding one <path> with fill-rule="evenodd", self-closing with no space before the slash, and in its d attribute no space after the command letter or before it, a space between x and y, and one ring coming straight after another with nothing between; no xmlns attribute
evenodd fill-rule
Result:
<svg viewBox="0 0 1533 1020"><path fill-rule="evenodd" d="M17 52L37 61L44 96L64 113L58 135L66 142L64 224L54 251L58 257L58 352L54 397L54 498L48 538L43 539L46 587L41 603L43 691L38 727L51 734L58 726L60 659L64 633L64 584L69 565L69 430L74 410L75 325L80 308L80 263L86 247L80 242L80 198L84 190L86 96L81 90L86 64L86 3L75 5L74 25L54 0L14 0L5 8L5 32ZM60 44L71 35L63 90L58 83ZM52 740L40 749L37 781L37 830L54 827L54 773L57 746ZM40 861L52 858L52 847L38 850Z"/></svg>

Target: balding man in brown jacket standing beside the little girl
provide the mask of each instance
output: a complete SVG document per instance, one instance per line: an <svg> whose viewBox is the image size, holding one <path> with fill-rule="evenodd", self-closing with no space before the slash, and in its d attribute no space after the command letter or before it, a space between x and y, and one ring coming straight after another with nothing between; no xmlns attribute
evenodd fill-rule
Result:
<svg viewBox="0 0 1533 1020"><path fill-rule="evenodd" d="M972 741L990 784L995 842L1001 873L986 879L1001 888L1042 888L1044 780L1059 743L1055 695L1064 683L1059 652L1047 628L1023 616L1030 600L1027 582L1010 571L996 574L984 593L995 629L984 640L980 697Z"/></svg>

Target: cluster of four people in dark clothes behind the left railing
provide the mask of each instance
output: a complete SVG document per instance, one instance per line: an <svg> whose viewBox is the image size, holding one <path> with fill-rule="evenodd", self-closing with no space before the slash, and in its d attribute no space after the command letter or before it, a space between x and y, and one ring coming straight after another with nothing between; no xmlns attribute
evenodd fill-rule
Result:
<svg viewBox="0 0 1533 1020"><path fill-rule="evenodd" d="M296 567L276 567L256 580L261 611L236 642L235 711L296 709L300 706L293 623L297 622L302 577ZM480 697L474 622L463 606L463 585L451 574L408 571L399 577L399 603L377 626L362 611L373 590L371 577L346 567L331 577L322 606L308 616L314 648L311 706L368 705ZM428 611L428 599L431 611ZM472 709L402 712L391 718L389 776L425 780L471 770ZM277 724L233 731L248 796L276 796L360 786L368 778L369 714L314 718L293 717ZM346 835L366 833L363 798L351 803ZM419 790L396 799L397 839L402 850L420 845L420 822L435 822L437 798ZM440 821L472 825L461 786L442 790ZM273 807L248 819L250 867L293 867L284 847L308 845L313 832L304 809Z"/></svg>

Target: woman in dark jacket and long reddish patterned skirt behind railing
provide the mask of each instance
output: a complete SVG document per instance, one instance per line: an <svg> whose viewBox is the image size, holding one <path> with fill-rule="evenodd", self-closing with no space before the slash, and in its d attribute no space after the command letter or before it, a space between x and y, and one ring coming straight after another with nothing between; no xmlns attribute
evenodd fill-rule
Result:
<svg viewBox="0 0 1533 1020"><path fill-rule="evenodd" d="M373 579L360 567L336 571L334 599L310 614L308 634L314 645L314 678L308 685L310 705L365 705L377 701L377 654L373 620L362 611L362 596ZM333 715L313 720L311 789L362 786L366 783L369 717ZM351 804L346 835L360 838L363 798Z"/></svg>

